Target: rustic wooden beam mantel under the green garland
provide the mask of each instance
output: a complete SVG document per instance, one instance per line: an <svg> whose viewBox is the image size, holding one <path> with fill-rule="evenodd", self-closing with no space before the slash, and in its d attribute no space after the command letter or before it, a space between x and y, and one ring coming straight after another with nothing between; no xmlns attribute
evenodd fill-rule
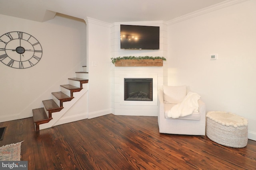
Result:
<svg viewBox="0 0 256 170"><path fill-rule="evenodd" d="M162 59L128 59L119 60L115 63L116 67L133 67L133 66L163 66Z"/></svg>

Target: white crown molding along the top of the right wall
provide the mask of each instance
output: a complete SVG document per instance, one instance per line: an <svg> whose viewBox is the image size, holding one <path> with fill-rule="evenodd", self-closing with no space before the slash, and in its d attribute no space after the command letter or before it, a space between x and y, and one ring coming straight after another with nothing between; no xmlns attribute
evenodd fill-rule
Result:
<svg viewBox="0 0 256 170"><path fill-rule="evenodd" d="M174 18L172 20L166 21L166 24L167 25L172 25L174 23L178 23L178 22L181 22L181 21L184 21L184 20L188 20L190 18L194 18L194 17L200 16L200 15L203 15L203 14L207 14L207 13L210 13L212 11L219 10L219 9L222 9L222 8L226 8L228 6L232 6L234 4L238 4L238 3L241 3L241 2L244 2L244 1L248 1L248 0L226 0L224 2L220 2L218 4L203 8L201 10L191 12L191 13L186 14L184 16L180 16L178 18Z"/></svg>

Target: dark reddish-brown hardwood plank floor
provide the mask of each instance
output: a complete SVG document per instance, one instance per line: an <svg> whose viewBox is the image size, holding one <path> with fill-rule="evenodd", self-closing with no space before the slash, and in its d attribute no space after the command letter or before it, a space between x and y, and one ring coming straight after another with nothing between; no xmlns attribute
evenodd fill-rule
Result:
<svg viewBox="0 0 256 170"><path fill-rule="evenodd" d="M0 146L24 141L29 170L256 169L256 141L231 148L207 136L160 134L157 117L110 114L39 132L32 117L5 126Z"/></svg>

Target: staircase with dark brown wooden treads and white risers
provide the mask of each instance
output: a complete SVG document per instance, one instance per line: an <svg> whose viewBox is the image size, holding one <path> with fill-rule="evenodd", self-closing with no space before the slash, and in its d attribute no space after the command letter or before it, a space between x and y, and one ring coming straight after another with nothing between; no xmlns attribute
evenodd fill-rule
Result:
<svg viewBox="0 0 256 170"><path fill-rule="evenodd" d="M52 99L42 101L44 107L32 109L36 131L40 130L39 125L49 123L51 120L53 121L52 113L60 112L64 108L63 102L69 102L74 99L74 93L80 92L83 89L83 84L88 83L86 66L83 66L83 70L82 72L76 72L76 78L68 78L69 84L60 85L60 92L52 92ZM66 111L61 114L64 115ZM62 115L58 116L57 119ZM54 120L54 122L56 121L58 120ZM49 127L52 127L52 123L49 123Z"/></svg>

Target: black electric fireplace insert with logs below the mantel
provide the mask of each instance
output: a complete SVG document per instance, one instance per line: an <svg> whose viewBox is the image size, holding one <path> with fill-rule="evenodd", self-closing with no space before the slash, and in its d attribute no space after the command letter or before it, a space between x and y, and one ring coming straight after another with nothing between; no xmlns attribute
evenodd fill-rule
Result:
<svg viewBox="0 0 256 170"><path fill-rule="evenodd" d="M124 100L153 101L153 78L124 78Z"/></svg>

